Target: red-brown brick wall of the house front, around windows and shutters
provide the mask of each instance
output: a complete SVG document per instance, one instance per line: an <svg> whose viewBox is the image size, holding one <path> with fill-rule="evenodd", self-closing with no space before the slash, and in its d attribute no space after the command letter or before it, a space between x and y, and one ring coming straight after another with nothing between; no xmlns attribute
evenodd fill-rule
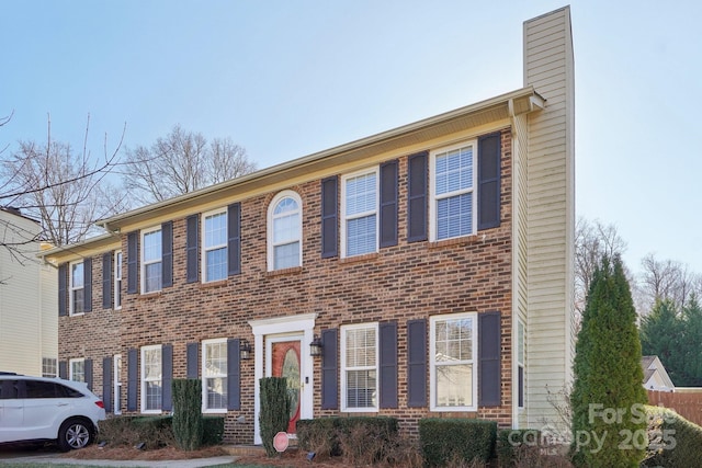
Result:
<svg viewBox="0 0 702 468"><path fill-rule="evenodd" d="M381 410L380 414L399 418L400 427L414 434L417 421L424 416L485 418L508 426L512 406L512 155L509 130L502 132L501 141L499 228L457 240L407 243L407 157L399 158L398 244L380 249L376 254L321 259L319 180L288 187L297 192L303 202L302 269L267 272L267 213L275 193L241 201L241 274L215 284L185 283L185 219L174 219L173 286L148 296L123 293L122 310L103 312L95 307L102 304L101 290L97 287L101 262L95 258L95 311L83 318L61 318L61 358L73 357L69 356L71 349L84 350L86 355L101 364L103 356L121 352L126 386L128 349L172 343L173 378L182 378L185 377L186 343L214 338L247 338L252 342L248 324L252 319L316 312L316 333L349 323L397 320L399 406ZM126 256L126 233L123 235L123 252ZM123 287L126 287L126 265L123 272ZM451 414L432 413L428 408L407 408L407 321L439 313L491 310L501 311L502 318L502 406L479 408L477 413ZM111 330L117 324L121 336ZM106 336L105 330L109 330ZM98 370L95 368L97 378ZM314 372L315 376L320 375L319 359L315 359ZM339 414L320 409L320 380L315 378L315 416ZM241 410L228 414L226 438L229 442L252 443L253 389L253 359L242 361ZM239 414L246 416L246 423L235 423Z"/></svg>

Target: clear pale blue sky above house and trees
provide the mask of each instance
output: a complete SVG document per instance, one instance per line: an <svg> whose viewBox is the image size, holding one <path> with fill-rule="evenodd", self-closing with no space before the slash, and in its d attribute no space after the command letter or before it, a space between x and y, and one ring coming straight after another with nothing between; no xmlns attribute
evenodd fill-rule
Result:
<svg viewBox="0 0 702 468"><path fill-rule="evenodd" d="M0 146L150 145L174 124L259 168L522 87L523 21L556 0L0 0ZM638 270L702 273L702 2L574 0L577 215Z"/></svg>

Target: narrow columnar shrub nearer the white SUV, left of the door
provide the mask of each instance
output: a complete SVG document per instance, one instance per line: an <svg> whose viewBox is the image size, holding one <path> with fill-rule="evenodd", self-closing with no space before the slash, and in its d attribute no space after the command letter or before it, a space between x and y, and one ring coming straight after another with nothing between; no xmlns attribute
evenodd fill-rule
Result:
<svg viewBox="0 0 702 468"><path fill-rule="evenodd" d="M183 450L196 450L202 445L202 381L177 378L173 390L173 436Z"/></svg>

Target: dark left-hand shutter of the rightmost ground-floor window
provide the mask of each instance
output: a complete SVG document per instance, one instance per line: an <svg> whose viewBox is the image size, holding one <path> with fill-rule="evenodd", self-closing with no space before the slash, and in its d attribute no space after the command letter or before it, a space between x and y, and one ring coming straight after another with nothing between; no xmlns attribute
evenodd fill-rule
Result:
<svg viewBox="0 0 702 468"><path fill-rule="evenodd" d="M407 407L427 406L427 320L407 321Z"/></svg>

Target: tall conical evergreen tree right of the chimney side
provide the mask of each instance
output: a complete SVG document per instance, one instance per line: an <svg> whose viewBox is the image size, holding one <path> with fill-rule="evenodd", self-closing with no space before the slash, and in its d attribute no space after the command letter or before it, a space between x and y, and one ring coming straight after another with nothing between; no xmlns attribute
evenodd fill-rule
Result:
<svg viewBox="0 0 702 468"><path fill-rule="evenodd" d="M587 467L638 467L648 437L641 341L619 256L595 273L574 363L574 460Z"/></svg>

